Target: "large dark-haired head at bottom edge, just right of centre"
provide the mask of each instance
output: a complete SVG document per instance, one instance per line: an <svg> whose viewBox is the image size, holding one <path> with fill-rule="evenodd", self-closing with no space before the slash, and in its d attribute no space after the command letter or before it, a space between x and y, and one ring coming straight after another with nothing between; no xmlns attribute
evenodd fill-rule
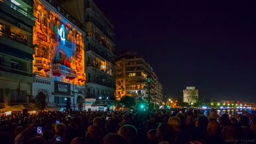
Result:
<svg viewBox="0 0 256 144"><path fill-rule="evenodd" d="M163 141L169 141L174 143L174 129L168 123L161 123L156 129L156 140L157 143Z"/></svg>

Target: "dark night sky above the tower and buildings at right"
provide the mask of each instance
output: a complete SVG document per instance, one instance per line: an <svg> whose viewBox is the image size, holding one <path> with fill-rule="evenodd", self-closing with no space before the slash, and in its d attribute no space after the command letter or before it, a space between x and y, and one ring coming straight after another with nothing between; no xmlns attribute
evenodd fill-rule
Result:
<svg viewBox="0 0 256 144"><path fill-rule="evenodd" d="M115 26L117 55L138 51L168 97L256 102L256 1L95 0Z"/></svg>

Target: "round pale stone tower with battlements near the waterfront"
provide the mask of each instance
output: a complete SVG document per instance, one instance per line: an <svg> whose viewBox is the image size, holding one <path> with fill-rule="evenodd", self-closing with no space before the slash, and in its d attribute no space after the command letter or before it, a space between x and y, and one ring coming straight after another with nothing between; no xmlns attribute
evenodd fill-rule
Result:
<svg viewBox="0 0 256 144"><path fill-rule="evenodd" d="M198 90L194 86L187 86L185 90L183 90L183 102L197 102L196 98L198 98Z"/></svg>

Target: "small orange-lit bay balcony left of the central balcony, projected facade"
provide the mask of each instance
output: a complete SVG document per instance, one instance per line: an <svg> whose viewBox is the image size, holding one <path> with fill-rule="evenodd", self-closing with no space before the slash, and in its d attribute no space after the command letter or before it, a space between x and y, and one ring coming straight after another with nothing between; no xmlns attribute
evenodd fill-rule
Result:
<svg viewBox="0 0 256 144"><path fill-rule="evenodd" d="M50 60L46 58L35 57L34 61L34 66L38 69L38 71L41 71L43 69L45 72L49 72L51 70Z"/></svg>

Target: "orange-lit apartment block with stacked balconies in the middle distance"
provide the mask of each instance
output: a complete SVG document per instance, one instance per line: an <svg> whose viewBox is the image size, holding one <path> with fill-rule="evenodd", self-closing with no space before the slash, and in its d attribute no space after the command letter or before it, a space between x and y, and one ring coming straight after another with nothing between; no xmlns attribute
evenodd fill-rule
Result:
<svg viewBox="0 0 256 144"><path fill-rule="evenodd" d="M163 99L163 87L156 74L141 55L125 52L116 59L116 100L124 95L135 97L137 104L148 103L147 75L151 75L150 102L159 104Z"/></svg>

